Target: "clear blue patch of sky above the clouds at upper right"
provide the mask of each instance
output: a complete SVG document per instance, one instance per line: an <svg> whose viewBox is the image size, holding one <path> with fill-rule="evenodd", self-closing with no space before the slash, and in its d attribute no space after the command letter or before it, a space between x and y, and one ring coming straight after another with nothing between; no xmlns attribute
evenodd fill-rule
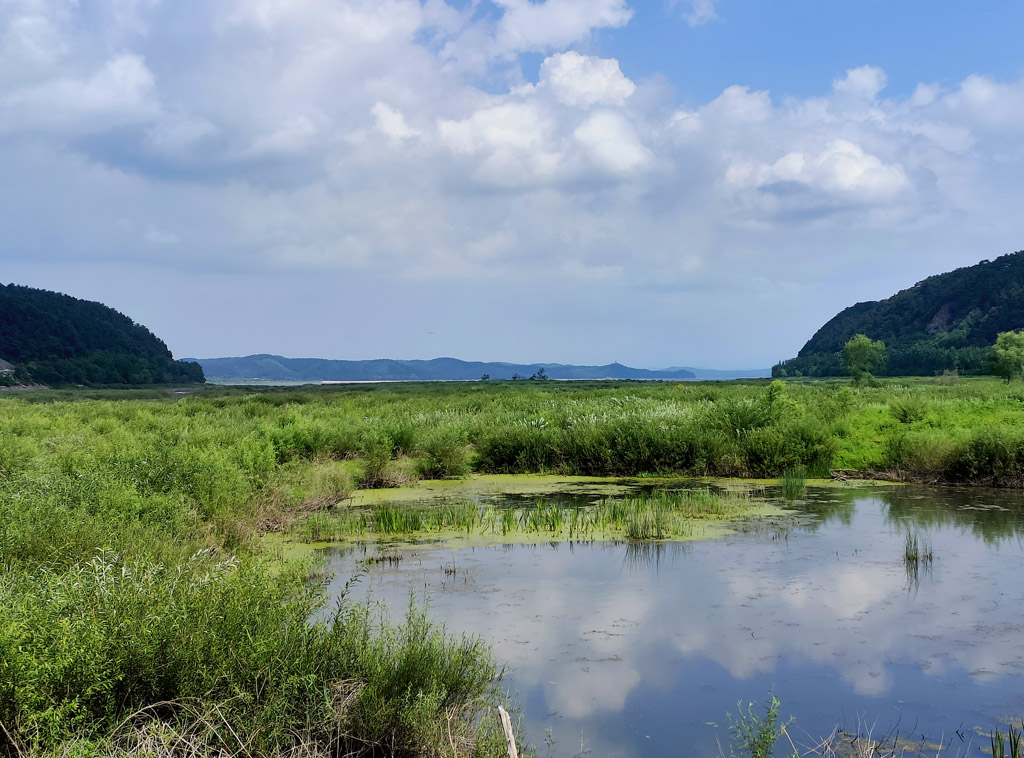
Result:
<svg viewBox="0 0 1024 758"><path fill-rule="evenodd" d="M635 7L630 24L602 33L601 49L621 55L632 76L666 76L690 104L732 84L813 96L864 65L886 72L890 96L922 82L951 87L969 74L1016 79L1024 70L1024 12L1010 2L721 0L716 17L693 28L681 4Z"/></svg>

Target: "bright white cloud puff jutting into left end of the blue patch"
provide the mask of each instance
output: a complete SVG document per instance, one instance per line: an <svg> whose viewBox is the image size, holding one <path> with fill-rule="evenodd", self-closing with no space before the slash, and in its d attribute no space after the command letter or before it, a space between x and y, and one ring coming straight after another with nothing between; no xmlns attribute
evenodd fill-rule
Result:
<svg viewBox="0 0 1024 758"><path fill-rule="evenodd" d="M623 76L618 61L596 58L570 50L541 64L541 86L548 87L566 106L622 106L636 90Z"/></svg>

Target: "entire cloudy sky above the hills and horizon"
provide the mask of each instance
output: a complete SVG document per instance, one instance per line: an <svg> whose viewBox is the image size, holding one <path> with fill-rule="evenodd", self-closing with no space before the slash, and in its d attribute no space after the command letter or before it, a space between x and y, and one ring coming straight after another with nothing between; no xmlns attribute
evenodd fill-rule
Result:
<svg viewBox="0 0 1024 758"><path fill-rule="evenodd" d="M0 0L0 282L176 356L761 368L1024 249L1024 3Z"/></svg>

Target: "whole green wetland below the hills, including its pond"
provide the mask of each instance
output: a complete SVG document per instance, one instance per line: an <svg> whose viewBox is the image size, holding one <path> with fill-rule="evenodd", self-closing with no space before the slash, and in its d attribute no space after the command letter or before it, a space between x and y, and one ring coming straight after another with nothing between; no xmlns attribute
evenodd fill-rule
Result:
<svg viewBox="0 0 1024 758"><path fill-rule="evenodd" d="M39 390L0 432L0 754L504 756L503 705L521 753L749 755L777 698L777 754L971 755L1024 715L1019 384Z"/></svg>

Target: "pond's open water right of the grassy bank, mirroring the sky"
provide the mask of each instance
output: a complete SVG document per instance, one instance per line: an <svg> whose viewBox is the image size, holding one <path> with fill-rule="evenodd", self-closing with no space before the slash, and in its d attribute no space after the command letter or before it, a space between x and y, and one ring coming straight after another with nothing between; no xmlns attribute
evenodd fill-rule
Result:
<svg viewBox="0 0 1024 758"><path fill-rule="evenodd" d="M486 639L539 756L728 755L726 714L771 693L807 747L839 727L980 755L1019 724L1024 496L810 488L792 507L694 542L396 545L352 595L398 615L415 593ZM934 555L916 572L908 531ZM330 591L381 550L330 548Z"/></svg>

